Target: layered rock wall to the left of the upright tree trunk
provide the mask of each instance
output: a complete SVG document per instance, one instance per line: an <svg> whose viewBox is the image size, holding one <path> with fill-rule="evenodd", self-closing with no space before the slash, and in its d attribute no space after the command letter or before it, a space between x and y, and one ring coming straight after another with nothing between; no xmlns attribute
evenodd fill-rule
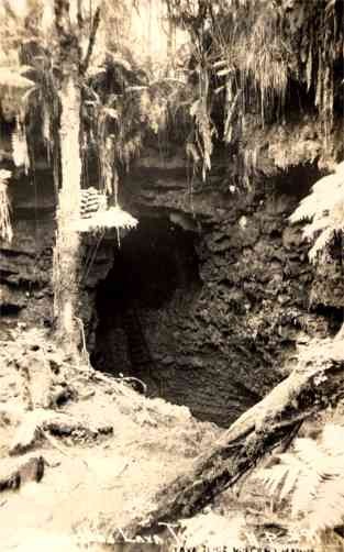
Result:
<svg viewBox="0 0 344 552"><path fill-rule="evenodd" d="M54 245L54 205L44 186L46 174L35 183L11 183L13 240L0 241L0 335L10 336L21 324L42 327L52 317L51 288Z"/></svg>

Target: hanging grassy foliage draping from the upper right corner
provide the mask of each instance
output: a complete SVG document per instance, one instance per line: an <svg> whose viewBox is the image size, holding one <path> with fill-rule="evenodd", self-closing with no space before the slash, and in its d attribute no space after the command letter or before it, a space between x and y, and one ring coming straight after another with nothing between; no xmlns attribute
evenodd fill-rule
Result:
<svg viewBox="0 0 344 552"><path fill-rule="evenodd" d="M245 180L251 177L251 158L244 154L253 128L247 121L264 128L288 120L291 89L299 88L306 109L318 112L323 150L331 151L335 100L343 103L342 0L319 0L312 9L309 0L165 1L175 23L191 36L189 78L202 88L207 73L210 81L200 95L207 109L195 118L195 133L204 134L220 106L222 139ZM210 148L196 150L203 168L209 166Z"/></svg>

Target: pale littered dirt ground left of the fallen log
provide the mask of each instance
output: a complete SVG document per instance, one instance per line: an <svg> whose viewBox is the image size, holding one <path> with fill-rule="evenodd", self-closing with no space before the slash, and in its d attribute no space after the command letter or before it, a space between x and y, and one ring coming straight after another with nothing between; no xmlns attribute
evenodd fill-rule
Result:
<svg viewBox="0 0 344 552"><path fill-rule="evenodd" d="M19 365L30 355L37 361L40 350L32 349L44 349L42 343L42 336L27 335L2 343L0 354L0 474L33 456L42 455L45 461L40 483L27 482L0 495L1 551L60 550L63 545L74 550L80 542L106 538L148 508L155 492L182 473L221 431L195 420L187 408L147 399L125 383L92 379L88 372L69 367L76 396L44 411L65 413L68 420L81 420L86 428L109 431L97 434L96 430L89 435L75 430L63 437L45 432L27 452L10 454L18 427L32 416L31 410L24 410L20 423L12 423L8 413L23 409L25 393ZM43 353L53 354L56 360L54 349ZM32 371L37 369L30 364ZM34 384L33 374L32 396ZM44 382L40 385L42 390Z"/></svg>

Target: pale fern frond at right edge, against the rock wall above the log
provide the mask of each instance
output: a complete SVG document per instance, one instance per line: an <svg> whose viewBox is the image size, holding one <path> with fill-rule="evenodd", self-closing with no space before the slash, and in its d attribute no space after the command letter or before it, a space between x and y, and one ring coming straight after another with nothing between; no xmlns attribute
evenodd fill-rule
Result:
<svg viewBox="0 0 344 552"><path fill-rule="evenodd" d="M312 192L307 196L291 214L291 222L309 220L303 228L303 235L313 240L309 252L314 263L325 253L326 245L335 234L342 235L344 230L344 162L335 167L335 172L318 180Z"/></svg>

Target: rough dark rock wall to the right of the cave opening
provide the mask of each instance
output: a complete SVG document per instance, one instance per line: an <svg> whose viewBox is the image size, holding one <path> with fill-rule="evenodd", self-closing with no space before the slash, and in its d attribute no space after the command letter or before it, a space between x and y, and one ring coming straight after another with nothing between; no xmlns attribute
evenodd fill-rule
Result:
<svg viewBox="0 0 344 552"><path fill-rule="evenodd" d="M288 223L320 174L296 167L245 196L221 191L214 176L190 196L177 165L144 159L123 187L123 202L137 216L179 213L188 231L193 221L200 286L180 286L163 308L140 317L163 396L226 426L285 377L298 344L340 327L343 305L332 309L333 295L328 309L319 308L321 292L310 306L323 283L300 228Z"/></svg>

